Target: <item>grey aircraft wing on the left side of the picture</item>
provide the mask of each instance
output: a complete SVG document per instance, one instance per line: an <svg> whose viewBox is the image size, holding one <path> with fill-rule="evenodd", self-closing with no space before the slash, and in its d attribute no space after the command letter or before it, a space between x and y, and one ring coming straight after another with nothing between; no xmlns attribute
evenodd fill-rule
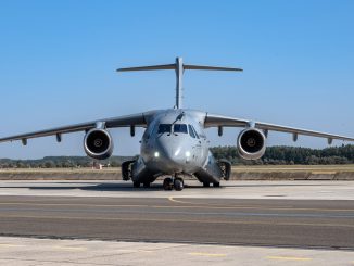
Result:
<svg viewBox="0 0 354 266"><path fill-rule="evenodd" d="M22 140L23 143L25 144L27 139L54 136L54 135L56 136L58 141L60 141L62 134L86 131L91 128L94 128L98 123L104 123L106 128L130 127L130 126L146 127L148 124L148 121L155 112L156 111L150 111L150 112L146 112L146 113L138 113L138 114L131 114L131 115L126 115L126 116L117 116L117 117L111 117L111 118L104 118L104 119L97 119L97 121L91 121L91 122L81 123L81 124L75 124L75 125L56 127L56 128L39 130L39 131L34 131L34 132L28 132L28 134L15 135L15 136L0 138L0 142Z"/></svg>

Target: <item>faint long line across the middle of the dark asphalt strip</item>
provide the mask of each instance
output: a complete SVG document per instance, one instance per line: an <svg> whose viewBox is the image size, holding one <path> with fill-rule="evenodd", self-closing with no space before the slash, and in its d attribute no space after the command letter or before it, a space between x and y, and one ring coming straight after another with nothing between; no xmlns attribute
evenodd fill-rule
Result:
<svg viewBox="0 0 354 266"><path fill-rule="evenodd" d="M191 223L191 224L227 224L227 225L277 225L277 226L312 226L312 227L349 227L354 225L311 224L311 223L265 223L237 220L198 220L198 219L147 219L147 218L103 218L103 217L69 217L69 216L30 216L30 215L0 215L0 218L31 218L31 219L78 219L78 220L122 220L122 221L153 221L153 223Z"/></svg>

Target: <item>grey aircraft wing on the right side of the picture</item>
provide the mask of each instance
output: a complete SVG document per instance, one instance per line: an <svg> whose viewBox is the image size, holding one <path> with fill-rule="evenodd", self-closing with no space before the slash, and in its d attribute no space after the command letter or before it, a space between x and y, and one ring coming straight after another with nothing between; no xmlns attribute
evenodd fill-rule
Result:
<svg viewBox="0 0 354 266"><path fill-rule="evenodd" d="M331 143L332 140L345 140L345 141L354 141L354 138L340 136L340 135L332 135L327 132L319 132L319 131L313 131L302 128L295 128L295 127L287 127L287 126L280 126L269 123L263 123L263 122L252 122L248 119L242 118L236 118L236 117L229 117L229 116L223 116L223 115L215 115L215 114L206 114L204 127L255 127L258 129L267 131L279 131L279 132L289 132L293 135L293 139L298 139L298 135L304 135L304 136L312 136L312 137L319 137L319 138L327 138L328 142Z"/></svg>

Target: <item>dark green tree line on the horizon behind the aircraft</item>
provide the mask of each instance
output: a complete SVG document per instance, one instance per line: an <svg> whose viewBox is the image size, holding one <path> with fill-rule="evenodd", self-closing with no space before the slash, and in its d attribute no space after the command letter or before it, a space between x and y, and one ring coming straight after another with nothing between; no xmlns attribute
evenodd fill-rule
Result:
<svg viewBox="0 0 354 266"><path fill-rule="evenodd" d="M226 159L232 165L315 165L315 164L353 164L354 145L309 149L300 147L269 147L264 156L255 161L246 161L239 156L236 147L211 148L216 160ZM88 156L46 156L38 160L0 159L0 168L76 168L92 167L100 163L110 167L119 167L123 162L137 156L111 156L97 161Z"/></svg>

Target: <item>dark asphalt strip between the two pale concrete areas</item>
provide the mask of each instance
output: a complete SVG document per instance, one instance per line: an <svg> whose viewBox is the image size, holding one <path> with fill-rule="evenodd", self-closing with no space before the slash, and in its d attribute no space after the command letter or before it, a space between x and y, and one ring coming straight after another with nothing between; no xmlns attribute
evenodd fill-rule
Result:
<svg viewBox="0 0 354 266"><path fill-rule="evenodd" d="M0 235L354 250L354 201L1 195Z"/></svg>

